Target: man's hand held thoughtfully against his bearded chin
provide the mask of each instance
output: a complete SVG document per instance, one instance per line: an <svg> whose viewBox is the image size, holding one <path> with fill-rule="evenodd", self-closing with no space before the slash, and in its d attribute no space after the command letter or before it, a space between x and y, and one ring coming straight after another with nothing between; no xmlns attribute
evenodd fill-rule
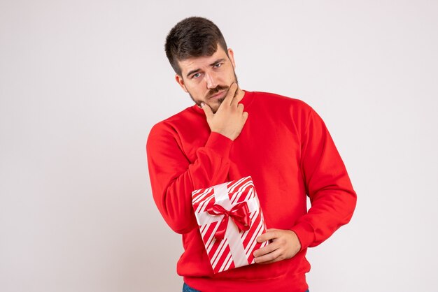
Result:
<svg viewBox="0 0 438 292"><path fill-rule="evenodd" d="M214 114L209 105L202 103L202 109L205 112L211 131L220 133L231 140L239 136L246 119L248 119L248 112L243 112L243 104L239 103L243 98L243 94L234 97L237 88L236 83L229 87L227 96L225 96L224 101Z"/></svg>

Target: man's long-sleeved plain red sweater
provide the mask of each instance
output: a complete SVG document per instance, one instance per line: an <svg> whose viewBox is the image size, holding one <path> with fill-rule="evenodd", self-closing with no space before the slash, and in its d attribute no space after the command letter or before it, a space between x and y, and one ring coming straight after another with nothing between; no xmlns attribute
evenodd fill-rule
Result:
<svg viewBox="0 0 438 292"><path fill-rule="evenodd" d="M245 92L241 103L249 115L234 141L211 132L197 105L150 131L146 150L153 197L167 224L183 235L178 275L200 291L304 292L307 247L351 219L356 194L330 133L309 105L262 92ZM288 260L214 275L191 193L248 175L267 228L295 231L302 250Z"/></svg>

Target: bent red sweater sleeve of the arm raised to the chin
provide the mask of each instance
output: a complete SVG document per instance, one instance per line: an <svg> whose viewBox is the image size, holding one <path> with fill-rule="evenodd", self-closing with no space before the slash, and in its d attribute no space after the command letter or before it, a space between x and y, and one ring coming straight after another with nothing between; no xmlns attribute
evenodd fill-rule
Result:
<svg viewBox="0 0 438 292"><path fill-rule="evenodd" d="M192 191L225 182L229 170L232 140L212 132L199 147L192 163L185 156L178 133L157 124L146 143L152 193L158 210L176 233L197 227Z"/></svg>

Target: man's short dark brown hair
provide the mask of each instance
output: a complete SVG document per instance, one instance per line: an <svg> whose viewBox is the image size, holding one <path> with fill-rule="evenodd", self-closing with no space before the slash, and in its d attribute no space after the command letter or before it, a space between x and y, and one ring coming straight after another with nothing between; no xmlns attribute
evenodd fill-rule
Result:
<svg viewBox="0 0 438 292"><path fill-rule="evenodd" d="M181 75L178 61L211 56L218 50L218 44L228 56L227 43L216 24L204 17L188 17L169 31L164 48L172 68Z"/></svg>

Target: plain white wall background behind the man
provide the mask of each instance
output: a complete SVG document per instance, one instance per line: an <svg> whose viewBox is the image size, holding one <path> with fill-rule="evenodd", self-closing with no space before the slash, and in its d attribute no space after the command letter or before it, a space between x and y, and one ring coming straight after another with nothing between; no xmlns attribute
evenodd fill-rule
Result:
<svg viewBox="0 0 438 292"><path fill-rule="evenodd" d="M437 1L0 1L0 291L181 291L145 143L192 105L164 39L209 17L243 89L323 117L358 207L317 291L438 291Z"/></svg>

